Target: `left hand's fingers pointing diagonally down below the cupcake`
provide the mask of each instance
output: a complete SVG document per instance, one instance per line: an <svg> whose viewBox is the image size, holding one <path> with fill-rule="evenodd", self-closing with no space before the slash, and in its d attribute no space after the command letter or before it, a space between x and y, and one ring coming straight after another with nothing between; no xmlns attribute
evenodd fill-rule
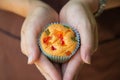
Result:
<svg viewBox="0 0 120 80"><path fill-rule="evenodd" d="M35 62L35 65L39 71L44 72L43 75L47 80L61 80L57 69L43 54L41 54L39 60Z"/></svg>

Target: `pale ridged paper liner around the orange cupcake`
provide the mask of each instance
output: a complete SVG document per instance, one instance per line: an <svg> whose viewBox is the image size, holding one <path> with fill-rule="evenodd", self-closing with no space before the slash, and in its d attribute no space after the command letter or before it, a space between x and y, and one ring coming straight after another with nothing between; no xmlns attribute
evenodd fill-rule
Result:
<svg viewBox="0 0 120 80"><path fill-rule="evenodd" d="M54 56L54 55L48 54L48 53L46 53L46 52L43 50L43 48L42 48L42 46L41 46L40 37L41 37L41 34L46 30L46 28L49 27L49 26L52 25L52 24L62 24L62 23L51 23L51 24L48 24L47 26L45 26L44 29L42 30L42 32L41 32L40 35L39 35L39 38L38 38L38 46L39 46L42 54L44 54L46 57L48 57L48 59L50 59L51 61L57 62L57 63L64 63L64 62L68 61L68 60L77 52L77 50L79 49L79 47L80 47L80 45L81 45L81 44L80 44L80 34L79 34L79 32L78 32L75 28L73 28L73 27L71 27L71 26L69 26L69 25L66 25L66 24L62 24L63 26L66 26L66 27L69 27L70 29L72 29L73 32L75 33L76 40L77 40L76 48L74 49L74 51L73 51L73 52L71 53L71 55L69 55L69 56Z"/></svg>

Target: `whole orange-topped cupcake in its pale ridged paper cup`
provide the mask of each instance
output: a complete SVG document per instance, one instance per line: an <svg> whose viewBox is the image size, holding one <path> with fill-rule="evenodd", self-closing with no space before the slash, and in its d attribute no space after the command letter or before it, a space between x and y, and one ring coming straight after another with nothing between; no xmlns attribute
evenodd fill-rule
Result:
<svg viewBox="0 0 120 80"><path fill-rule="evenodd" d="M73 27L51 23L40 33L38 44L42 53L50 60L64 63L80 47L80 35Z"/></svg>

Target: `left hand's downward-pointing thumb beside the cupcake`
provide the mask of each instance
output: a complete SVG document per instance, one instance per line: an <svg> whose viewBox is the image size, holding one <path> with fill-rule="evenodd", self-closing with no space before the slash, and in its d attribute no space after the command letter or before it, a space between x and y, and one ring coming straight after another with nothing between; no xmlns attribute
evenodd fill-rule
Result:
<svg viewBox="0 0 120 80"><path fill-rule="evenodd" d="M34 63L40 55L37 38L31 31L21 31L21 50L28 57L28 64Z"/></svg>

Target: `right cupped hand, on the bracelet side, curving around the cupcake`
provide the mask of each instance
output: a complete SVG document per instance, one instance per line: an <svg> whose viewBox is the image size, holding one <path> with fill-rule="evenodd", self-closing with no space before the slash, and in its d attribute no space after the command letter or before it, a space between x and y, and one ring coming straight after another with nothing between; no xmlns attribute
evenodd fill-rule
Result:
<svg viewBox="0 0 120 80"><path fill-rule="evenodd" d="M60 12L60 22L75 27L81 37L78 52L62 65L63 80L73 80L84 62L90 64L91 55L98 46L97 25L88 5L82 0L69 1Z"/></svg>

